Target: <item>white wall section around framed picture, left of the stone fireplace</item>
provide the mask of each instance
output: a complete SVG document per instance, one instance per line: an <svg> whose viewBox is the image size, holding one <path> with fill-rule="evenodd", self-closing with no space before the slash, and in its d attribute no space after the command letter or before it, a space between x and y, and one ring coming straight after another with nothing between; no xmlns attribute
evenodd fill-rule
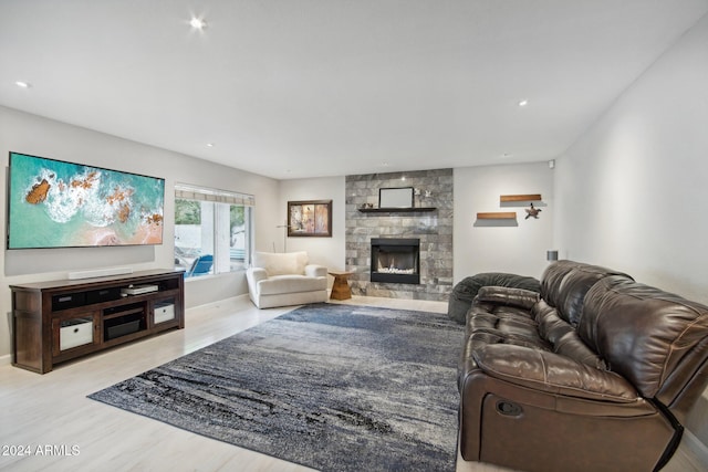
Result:
<svg viewBox="0 0 708 472"><path fill-rule="evenodd" d="M308 251L310 261L330 270L343 271L345 268L345 195L344 177L283 180L280 182L279 224L288 221L288 201L332 200L332 238L288 238L288 251ZM280 239L275 250L283 250L285 228L278 229ZM269 249L272 251L272 245Z"/></svg>

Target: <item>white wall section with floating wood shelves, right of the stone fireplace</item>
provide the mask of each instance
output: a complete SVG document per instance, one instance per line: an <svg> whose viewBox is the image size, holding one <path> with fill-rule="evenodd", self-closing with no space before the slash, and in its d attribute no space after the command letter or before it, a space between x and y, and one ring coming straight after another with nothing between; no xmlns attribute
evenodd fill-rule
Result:
<svg viewBox="0 0 708 472"><path fill-rule="evenodd" d="M540 277L554 249L554 170L548 162L455 169L455 283L480 272ZM541 193L539 219L525 219L528 206L501 207L501 195ZM516 211L518 225L483 225L478 212ZM487 222L489 223L489 222ZM492 222L497 224L500 222Z"/></svg>

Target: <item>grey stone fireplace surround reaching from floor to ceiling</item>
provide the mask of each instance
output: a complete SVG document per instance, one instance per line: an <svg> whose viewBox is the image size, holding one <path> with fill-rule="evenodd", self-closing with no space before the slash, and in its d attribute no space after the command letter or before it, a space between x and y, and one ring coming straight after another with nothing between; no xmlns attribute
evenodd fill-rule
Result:
<svg viewBox="0 0 708 472"><path fill-rule="evenodd" d="M433 211L360 211L378 207L378 189L413 187L416 208ZM448 300L452 289L452 169L346 176L346 270L355 295ZM371 282L372 238L420 240L419 284Z"/></svg>

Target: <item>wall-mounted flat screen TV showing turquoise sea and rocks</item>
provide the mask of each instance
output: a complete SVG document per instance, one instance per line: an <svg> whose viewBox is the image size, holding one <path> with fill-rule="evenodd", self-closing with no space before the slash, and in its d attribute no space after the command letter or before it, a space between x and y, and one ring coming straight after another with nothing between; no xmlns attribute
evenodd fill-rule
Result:
<svg viewBox="0 0 708 472"><path fill-rule="evenodd" d="M10 153L8 249L163 243L165 179Z"/></svg>

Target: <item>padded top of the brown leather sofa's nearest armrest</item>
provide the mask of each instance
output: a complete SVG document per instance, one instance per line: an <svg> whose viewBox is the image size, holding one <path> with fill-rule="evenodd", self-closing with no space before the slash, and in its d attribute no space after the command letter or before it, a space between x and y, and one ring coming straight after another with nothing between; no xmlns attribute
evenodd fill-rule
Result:
<svg viewBox="0 0 708 472"><path fill-rule="evenodd" d="M472 348L471 357L487 375L534 390L615 402L639 398L620 375L546 350L485 343Z"/></svg>

